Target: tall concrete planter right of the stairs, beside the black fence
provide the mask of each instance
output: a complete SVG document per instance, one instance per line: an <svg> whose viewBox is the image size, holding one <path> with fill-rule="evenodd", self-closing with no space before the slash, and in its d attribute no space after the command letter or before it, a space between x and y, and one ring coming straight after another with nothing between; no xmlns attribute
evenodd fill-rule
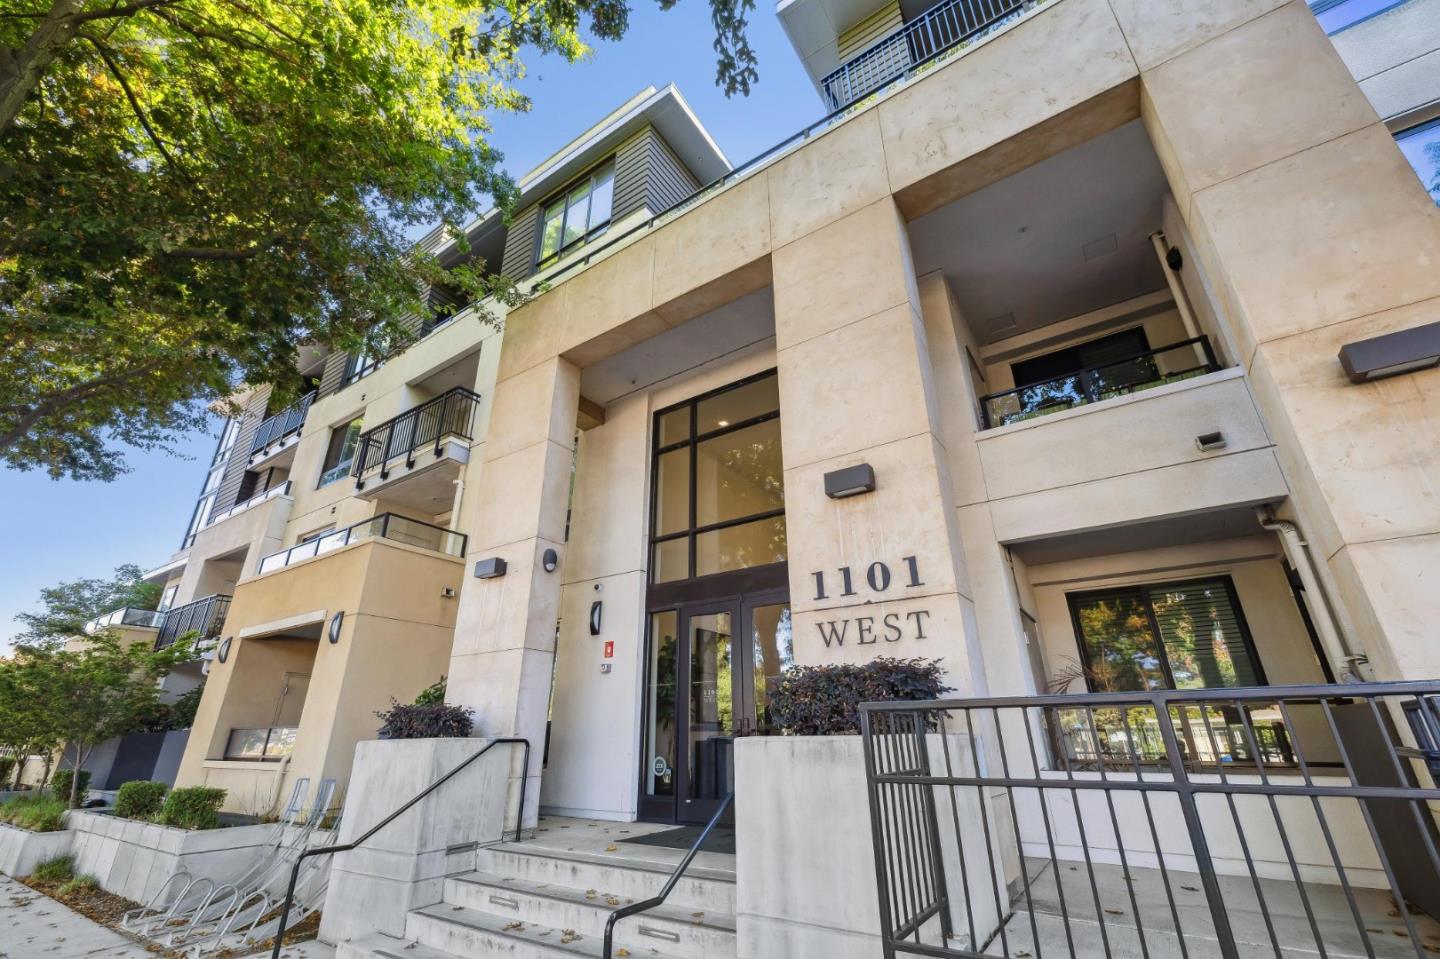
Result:
<svg viewBox="0 0 1440 959"><path fill-rule="evenodd" d="M939 736L930 736L936 766ZM952 755L966 749L950 739ZM740 959L874 959L880 906L870 844L870 801L858 736L750 736L734 742L736 936ZM979 822L979 806L960 798L959 818ZM940 818L946 873L953 827ZM973 888L984 877L971 864ZM979 884L976 884L979 883ZM981 935L996 927L979 914ZM955 929L966 929L963 899L952 899ZM953 943L960 945L960 943Z"/></svg>

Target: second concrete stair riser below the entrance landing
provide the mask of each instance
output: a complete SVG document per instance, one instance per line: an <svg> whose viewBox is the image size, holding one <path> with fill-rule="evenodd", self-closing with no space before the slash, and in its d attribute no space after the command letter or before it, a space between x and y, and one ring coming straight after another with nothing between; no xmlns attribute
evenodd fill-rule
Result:
<svg viewBox="0 0 1440 959"><path fill-rule="evenodd" d="M552 929L573 929L583 936L600 937L605 935L605 923L616 909L608 906L603 899L606 890L599 890L602 897L592 903L575 903L566 900L534 896L497 886L480 886L477 883L451 880L445 884L445 901L452 906L465 906L492 916L518 919L524 923L537 923ZM491 901L491 897L516 903L514 909ZM642 935L642 929L655 929L661 936ZM696 923L658 919L655 916L631 916L622 919L618 926L619 937L634 943L648 943L660 949L667 956L690 956L693 959L719 959L720 956L734 956L734 932ZM665 935L675 935L678 940ZM636 953L639 955L639 953Z"/></svg>

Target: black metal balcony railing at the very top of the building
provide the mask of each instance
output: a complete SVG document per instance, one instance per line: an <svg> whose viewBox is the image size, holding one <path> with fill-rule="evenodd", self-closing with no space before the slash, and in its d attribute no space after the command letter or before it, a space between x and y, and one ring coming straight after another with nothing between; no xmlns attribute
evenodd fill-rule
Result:
<svg viewBox="0 0 1440 959"><path fill-rule="evenodd" d="M827 105L840 109L867 96L906 71L1020 14L1027 1L945 0L930 7L822 79Z"/></svg>

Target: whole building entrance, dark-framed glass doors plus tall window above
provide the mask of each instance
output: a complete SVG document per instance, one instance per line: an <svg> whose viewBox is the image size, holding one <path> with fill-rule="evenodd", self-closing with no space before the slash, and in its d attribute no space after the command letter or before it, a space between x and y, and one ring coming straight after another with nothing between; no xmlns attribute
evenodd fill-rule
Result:
<svg viewBox="0 0 1440 959"><path fill-rule="evenodd" d="M775 373L655 413L639 814L706 822L792 662Z"/></svg>

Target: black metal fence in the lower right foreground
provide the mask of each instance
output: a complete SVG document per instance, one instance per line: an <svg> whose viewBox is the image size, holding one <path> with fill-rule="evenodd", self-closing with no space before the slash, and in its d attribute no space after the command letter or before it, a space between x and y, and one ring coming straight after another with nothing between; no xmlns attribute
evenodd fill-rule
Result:
<svg viewBox="0 0 1440 959"><path fill-rule="evenodd" d="M916 956L1440 953L1440 683L867 704Z"/></svg>

